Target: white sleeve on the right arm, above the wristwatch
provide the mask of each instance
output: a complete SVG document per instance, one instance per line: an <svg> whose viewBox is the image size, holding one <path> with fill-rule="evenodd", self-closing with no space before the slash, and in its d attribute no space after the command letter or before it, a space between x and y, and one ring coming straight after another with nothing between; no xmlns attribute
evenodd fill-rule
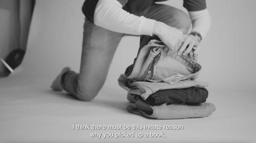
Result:
<svg viewBox="0 0 256 143"><path fill-rule="evenodd" d="M207 9L200 11L188 12L192 20L193 28L191 32L200 33L202 38L205 38L211 27L211 17Z"/></svg>

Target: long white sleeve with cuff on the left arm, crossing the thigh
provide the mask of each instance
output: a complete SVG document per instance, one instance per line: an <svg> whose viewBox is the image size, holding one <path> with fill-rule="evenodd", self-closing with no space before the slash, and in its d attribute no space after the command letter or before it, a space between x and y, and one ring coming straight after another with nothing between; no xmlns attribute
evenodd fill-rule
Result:
<svg viewBox="0 0 256 143"><path fill-rule="evenodd" d="M155 20L126 12L116 0L99 0L94 12L94 23L119 33L152 36Z"/></svg>

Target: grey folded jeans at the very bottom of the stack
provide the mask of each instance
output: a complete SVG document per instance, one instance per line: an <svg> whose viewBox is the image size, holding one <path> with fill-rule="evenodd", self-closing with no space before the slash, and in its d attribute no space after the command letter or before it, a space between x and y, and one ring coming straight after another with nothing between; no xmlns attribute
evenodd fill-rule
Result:
<svg viewBox="0 0 256 143"><path fill-rule="evenodd" d="M137 115L154 119L180 119L206 117L216 110L212 103L199 103L197 105L163 103L160 105L149 105L140 99L135 99L136 107L128 106L126 109Z"/></svg>

